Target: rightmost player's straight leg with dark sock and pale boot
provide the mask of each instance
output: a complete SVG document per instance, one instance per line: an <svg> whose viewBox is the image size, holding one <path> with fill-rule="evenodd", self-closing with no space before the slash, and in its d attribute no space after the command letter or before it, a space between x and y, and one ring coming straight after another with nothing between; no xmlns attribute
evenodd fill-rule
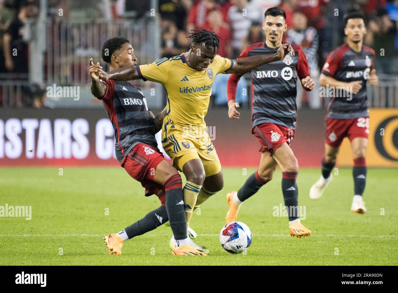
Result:
<svg viewBox="0 0 398 293"><path fill-rule="evenodd" d="M351 212L364 214L366 212L365 203L362 200L362 194L366 184L366 147L368 139L356 137L351 141L351 151L354 160L352 175L354 178L354 197L351 206Z"/></svg>

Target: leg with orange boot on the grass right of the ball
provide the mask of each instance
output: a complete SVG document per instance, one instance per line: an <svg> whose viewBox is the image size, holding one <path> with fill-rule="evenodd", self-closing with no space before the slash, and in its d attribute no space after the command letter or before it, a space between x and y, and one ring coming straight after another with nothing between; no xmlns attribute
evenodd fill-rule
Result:
<svg viewBox="0 0 398 293"><path fill-rule="evenodd" d="M282 169L282 194L289 214L290 235L298 238L310 236L311 231L300 223L299 218L298 187L296 182L298 175L297 159L287 142L274 151L273 157Z"/></svg>

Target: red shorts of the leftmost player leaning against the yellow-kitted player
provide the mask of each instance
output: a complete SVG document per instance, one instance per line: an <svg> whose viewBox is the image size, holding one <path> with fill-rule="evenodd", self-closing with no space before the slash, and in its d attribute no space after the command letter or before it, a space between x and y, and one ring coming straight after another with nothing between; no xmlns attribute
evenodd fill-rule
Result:
<svg viewBox="0 0 398 293"><path fill-rule="evenodd" d="M153 181L156 167L164 157L156 149L146 144L137 144L126 155L123 168L145 188L145 196L156 194L165 205L165 193L161 184Z"/></svg>

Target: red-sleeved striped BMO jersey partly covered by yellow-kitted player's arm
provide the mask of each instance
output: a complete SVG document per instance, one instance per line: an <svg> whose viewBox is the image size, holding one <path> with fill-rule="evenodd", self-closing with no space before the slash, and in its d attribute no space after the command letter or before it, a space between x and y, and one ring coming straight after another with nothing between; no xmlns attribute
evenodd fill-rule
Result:
<svg viewBox="0 0 398 293"><path fill-rule="evenodd" d="M252 77L252 127L271 122L296 129L297 78L310 75L310 67L301 47L292 44L295 55L262 65L251 71ZM265 42L244 49L239 58L275 54L278 48L268 47ZM232 74L228 79L228 100L235 99L236 85L241 75Z"/></svg>

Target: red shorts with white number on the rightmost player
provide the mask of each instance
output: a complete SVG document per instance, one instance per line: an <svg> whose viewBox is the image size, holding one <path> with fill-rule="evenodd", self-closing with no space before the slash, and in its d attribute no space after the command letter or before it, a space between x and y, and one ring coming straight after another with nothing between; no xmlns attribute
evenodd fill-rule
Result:
<svg viewBox="0 0 398 293"><path fill-rule="evenodd" d="M353 119L326 118L325 142L329 146L339 147L345 137L352 142L354 138L368 138L369 116Z"/></svg>

